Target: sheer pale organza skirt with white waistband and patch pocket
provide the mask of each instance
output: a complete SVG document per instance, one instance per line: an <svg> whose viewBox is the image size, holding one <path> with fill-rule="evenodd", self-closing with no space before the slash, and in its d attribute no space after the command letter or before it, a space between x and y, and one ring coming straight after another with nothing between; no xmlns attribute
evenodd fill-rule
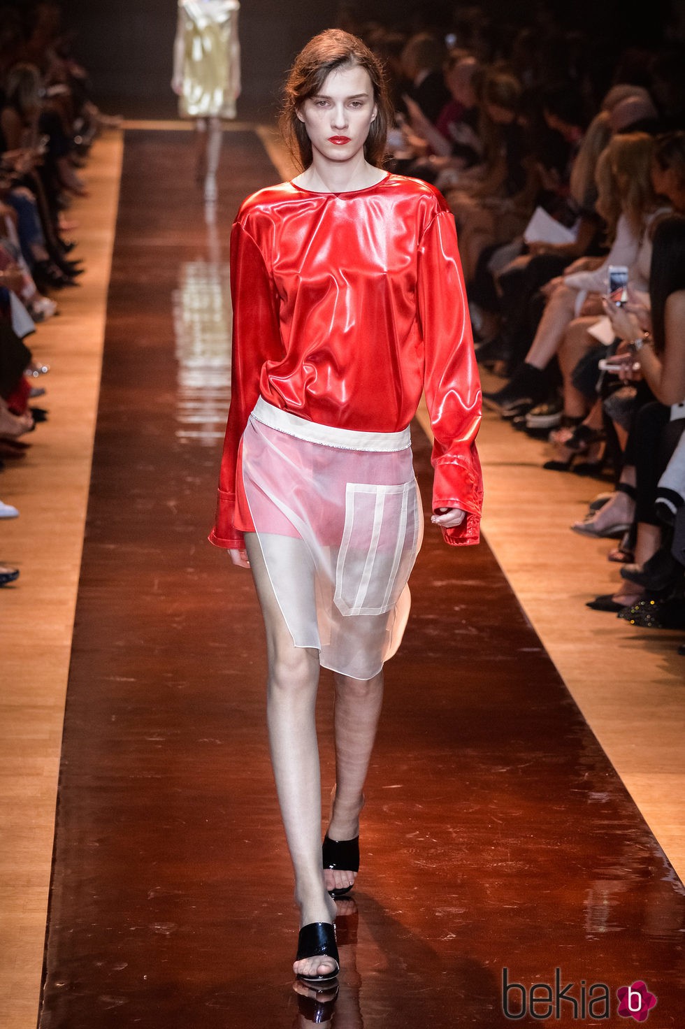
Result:
<svg viewBox="0 0 685 1029"><path fill-rule="evenodd" d="M293 642L318 649L324 668L370 679L400 644L423 534L408 428L331 428L260 398L241 465Z"/></svg>

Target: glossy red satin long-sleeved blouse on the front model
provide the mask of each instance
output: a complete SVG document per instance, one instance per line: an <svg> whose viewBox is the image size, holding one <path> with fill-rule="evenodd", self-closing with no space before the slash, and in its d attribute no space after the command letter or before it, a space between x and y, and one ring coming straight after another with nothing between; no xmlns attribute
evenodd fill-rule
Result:
<svg viewBox="0 0 685 1029"><path fill-rule="evenodd" d="M444 538L477 543L480 385L442 196L392 174L342 193L291 182L261 189L233 223L230 278L231 400L210 540L244 546L236 474L259 395L324 425L396 432L423 390L435 435L433 508L466 510Z"/></svg>

